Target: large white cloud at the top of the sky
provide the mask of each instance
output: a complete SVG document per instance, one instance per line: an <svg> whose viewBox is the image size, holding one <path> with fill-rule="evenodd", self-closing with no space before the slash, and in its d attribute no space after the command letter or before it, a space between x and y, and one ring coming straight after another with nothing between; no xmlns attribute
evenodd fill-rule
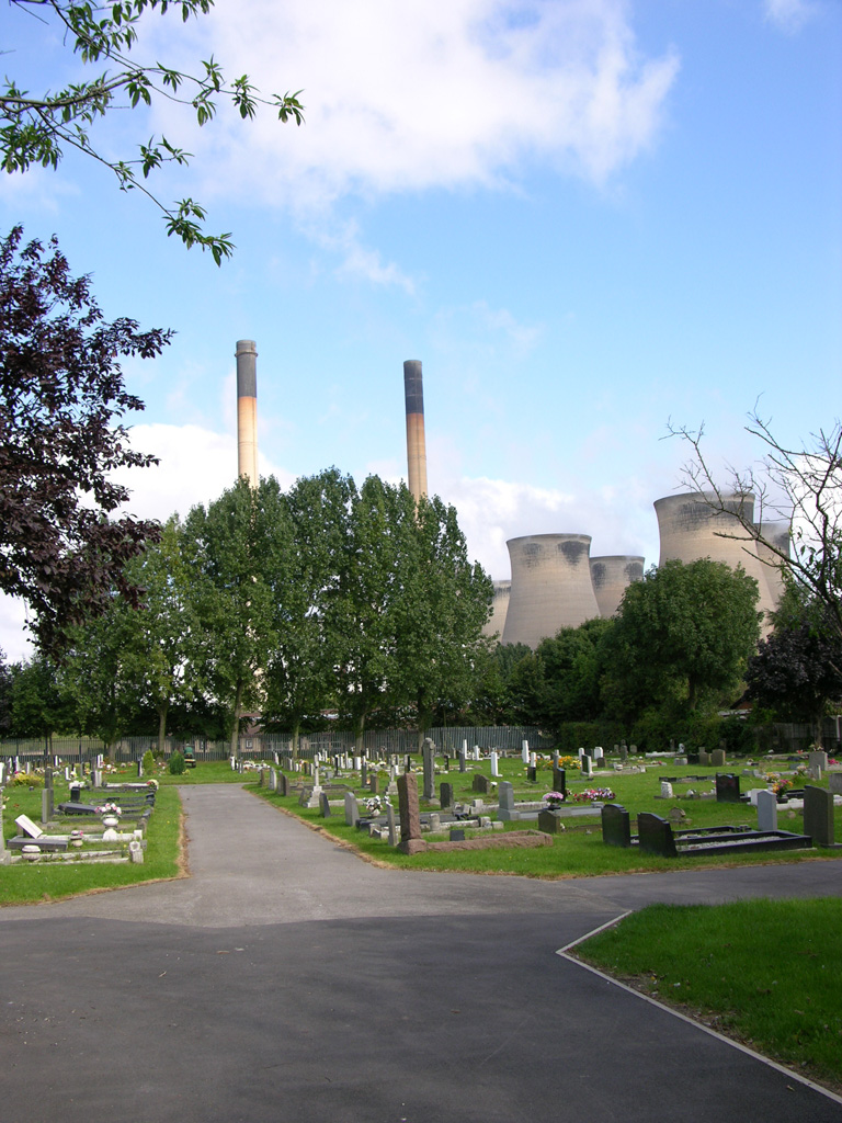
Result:
<svg viewBox="0 0 842 1123"><path fill-rule="evenodd" d="M216 156L209 191L304 214L346 194L505 186L530 161L601 183L653 141L678 70L672 52L642 56L628 9L219 0L192 30L201 49L264 91L303 88L306 124L281 127L268 110L245 126L220 118L187 146L205 168ZM183 131L170 111L159 124Z"/></svg>

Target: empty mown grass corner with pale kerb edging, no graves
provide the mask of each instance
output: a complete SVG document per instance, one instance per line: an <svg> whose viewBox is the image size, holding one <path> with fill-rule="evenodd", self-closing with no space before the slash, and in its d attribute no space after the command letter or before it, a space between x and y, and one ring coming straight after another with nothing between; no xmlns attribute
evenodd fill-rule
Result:
<svg viewBox="0 0 842 1123"><path fill-rule="evenodd" d="M842 1090L842 900L651 905L576 955Z"/></svg>

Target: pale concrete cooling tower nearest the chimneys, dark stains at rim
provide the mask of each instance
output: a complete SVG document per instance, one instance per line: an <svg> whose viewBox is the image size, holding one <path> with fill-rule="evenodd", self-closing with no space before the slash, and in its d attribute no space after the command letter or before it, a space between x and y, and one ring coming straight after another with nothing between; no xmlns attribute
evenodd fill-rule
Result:
<svg viewBox="0 0 842 1123"><path fill-rule="evenodd" d="M591 583L589 535L528 535L506 542L512 559L504 643L538 647L559 628L600 615Z"/></svg>

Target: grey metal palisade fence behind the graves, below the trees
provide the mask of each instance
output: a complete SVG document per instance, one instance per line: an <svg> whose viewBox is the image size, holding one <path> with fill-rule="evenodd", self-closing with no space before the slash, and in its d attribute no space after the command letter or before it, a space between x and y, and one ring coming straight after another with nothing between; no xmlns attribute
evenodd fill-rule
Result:
<svg viewBox="0 0 842 1123"><path fill-rule="evenodd" d="M555 743L553 738L544 737L533 725L450 727L429 729L425 736L432 739L439 752L454 755L464 742L467 742L468 749L478 746L484 751L496 749L498 752L519 752L524 740L532 749L550 748ZM209 741L201 737L167 738L165 752L168 756L185 745L193 748L196 760L227 760L231 754L230 741ZM363 737L363 749L373 759L417 752L418 747L415 730L378 729ZM95 737L18 738L0 740L0 757L17 758L22 765L93 760L102 755L115 764L121 764L139 760L147 749L156 752L157 748L155 737L125 737L113 745L106 745ZM271 760L276 752L290 752L291 749L292 741L285 733L241 734L239 739L239 756L247 760ZM330 730L299 738L299 756L304 759L312 759L317 752L332 756L353 752L354 749L354 733L348 730Z"/></svg>

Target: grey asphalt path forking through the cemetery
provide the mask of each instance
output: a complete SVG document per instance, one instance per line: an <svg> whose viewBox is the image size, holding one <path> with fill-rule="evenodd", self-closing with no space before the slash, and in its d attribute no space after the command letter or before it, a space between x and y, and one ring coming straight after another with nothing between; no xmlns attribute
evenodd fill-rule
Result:
<svg viewBox="0 0 842 1123"><path fill-rule="evenodd" d="M557 955L653 901L842 894L840 861L408 873L238 786L182 798L190 877L0 910L2 1123L842 1121Z"/></svg>

